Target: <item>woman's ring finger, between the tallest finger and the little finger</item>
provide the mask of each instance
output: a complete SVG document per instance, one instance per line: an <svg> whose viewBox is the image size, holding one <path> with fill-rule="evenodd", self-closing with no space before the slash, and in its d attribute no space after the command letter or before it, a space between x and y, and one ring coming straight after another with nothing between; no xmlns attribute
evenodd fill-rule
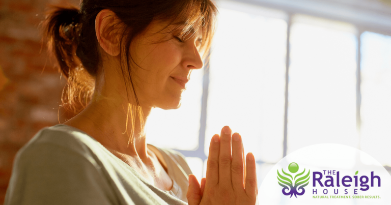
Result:
<svg viewBox="0 0 391 205"><path fill-rule="evenodd" d="M243 155L242 140L239 133L232 135L232 165L231 165L232 187L234 190L242 191L243 186Z"/></svg>

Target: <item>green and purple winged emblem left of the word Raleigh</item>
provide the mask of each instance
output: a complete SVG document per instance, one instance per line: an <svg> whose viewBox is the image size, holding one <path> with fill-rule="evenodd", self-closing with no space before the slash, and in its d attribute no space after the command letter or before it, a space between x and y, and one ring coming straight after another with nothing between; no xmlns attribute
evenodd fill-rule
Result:
<svg viewBox="0 0 391 205"><path fill-rule="evenodd" d="M305 174L305 168L304 171L294 175L299 170L299 165L295 162L292 162L288 166L288 170L292 173L289 174L284 171L282 168L282 174L278 172L277 169L277 179L278 184L280 184L283 187L283 194L288 196L291 195L290 198L295 195L297 198L297 195L301 196L305 193L304 187L307 186L310 182L310 170L308 170L308 173ZM305 174L305 175L304 175ZM294 176L292 176L294 175Z"/></svg>

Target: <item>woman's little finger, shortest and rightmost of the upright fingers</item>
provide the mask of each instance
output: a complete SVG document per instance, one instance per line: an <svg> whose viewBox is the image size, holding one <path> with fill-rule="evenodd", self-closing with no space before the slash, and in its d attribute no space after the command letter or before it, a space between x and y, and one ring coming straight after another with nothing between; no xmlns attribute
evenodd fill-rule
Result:
<svg viewBox="0 0 391 205"><path fill-rule="evenodd" d="M245 190L246 194L249 198L256 197L256 189L257 189L257 174L255 170L255 159L253 153L248 153L246 156L246 185Z"/></svg>

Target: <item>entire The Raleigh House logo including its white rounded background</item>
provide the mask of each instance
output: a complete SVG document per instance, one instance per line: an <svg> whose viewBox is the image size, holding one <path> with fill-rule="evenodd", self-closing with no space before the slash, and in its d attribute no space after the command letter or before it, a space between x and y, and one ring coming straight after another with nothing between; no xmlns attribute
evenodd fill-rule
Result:
<svg viewBox="0 0 391 205"><path fill-rule="evenodd" d="M277 178L277 180L275 179ZM391 175L353 147L319 143L278 161L258 188L259 204L387 204Z"/></svg>

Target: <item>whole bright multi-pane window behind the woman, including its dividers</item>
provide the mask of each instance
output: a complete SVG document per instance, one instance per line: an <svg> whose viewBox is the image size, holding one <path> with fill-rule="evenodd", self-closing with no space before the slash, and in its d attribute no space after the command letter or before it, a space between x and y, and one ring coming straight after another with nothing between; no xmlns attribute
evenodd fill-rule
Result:
<svg viewBox="0 0 391 205"><path fill-rule="evenodd" d="M332 7L319 18L254 4L219 2L209 64L192 71L181 108L153 110L148 143L184 154L199 180L225 125L254 153L259 186L276 162L315 143L361 149L391 170L391 36L367 29L369 18L336 20Z"/></svg>

